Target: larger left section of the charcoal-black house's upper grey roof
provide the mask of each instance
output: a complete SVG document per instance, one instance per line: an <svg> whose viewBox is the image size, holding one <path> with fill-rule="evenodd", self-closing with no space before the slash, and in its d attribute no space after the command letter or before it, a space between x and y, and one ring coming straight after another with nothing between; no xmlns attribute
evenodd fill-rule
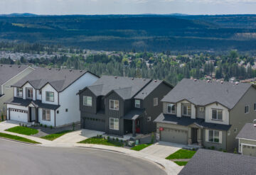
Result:
<svg viewBox="0 0 256 175"><path fill-rule="evenodd" d="M141 91L151 79L138 79L129 77L102 76L92 86L87 88L95 96L106 96L111 91L115 91L124 100L132 98ZM81 91L80 91L81 92Z"/></svg>

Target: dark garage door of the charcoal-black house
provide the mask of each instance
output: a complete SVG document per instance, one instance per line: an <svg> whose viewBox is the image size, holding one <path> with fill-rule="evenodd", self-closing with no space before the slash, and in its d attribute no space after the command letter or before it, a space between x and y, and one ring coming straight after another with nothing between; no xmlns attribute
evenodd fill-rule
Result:
<svg viewBox="0 0 256 175"><path fill-rule="evenodd" d="M87 130L105 131L105 120L96 118L84 118L83 128Z"/></svg>

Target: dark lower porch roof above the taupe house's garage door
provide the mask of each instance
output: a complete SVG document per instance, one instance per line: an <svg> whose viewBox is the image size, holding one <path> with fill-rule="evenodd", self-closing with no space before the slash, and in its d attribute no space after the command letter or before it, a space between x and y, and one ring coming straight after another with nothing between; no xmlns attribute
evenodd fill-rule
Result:
<svg viewBox="0 0 256 175"><path fill-rule="evenodd" d="M170 123L174 125L183 125L188 126L191 124L200 125L203 128L210 128L216 130L229 130L231 125L222 125L222 124L215 124L215 123L206 123L202 118L188 118L188 117L177 117L176 115L164 114L161 113L156 120L156 123Z"/></svg>

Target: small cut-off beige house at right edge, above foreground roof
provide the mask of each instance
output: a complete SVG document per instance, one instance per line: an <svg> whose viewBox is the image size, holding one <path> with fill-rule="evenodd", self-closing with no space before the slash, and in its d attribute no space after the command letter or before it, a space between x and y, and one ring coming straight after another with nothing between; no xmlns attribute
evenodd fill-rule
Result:
<svg viewBox="0 0 256 175"><path fill-rule="evenodd" d="M255 116L256 118L256 116ZM253 123L246 123L240 130L237 137L238 139L238 152L243 155L256 157L256 125Z"/></svg>

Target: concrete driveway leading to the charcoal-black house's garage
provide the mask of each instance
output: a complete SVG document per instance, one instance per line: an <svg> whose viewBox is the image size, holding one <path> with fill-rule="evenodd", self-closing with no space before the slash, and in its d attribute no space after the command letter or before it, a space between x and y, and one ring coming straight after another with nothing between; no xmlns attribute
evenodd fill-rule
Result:
<svg viewBox="0 0 256 175"><path fill-rule="evenodd" d="M82 140L85 140L90 137L95 137L97 135L103 135L105 132L97 131L97 130L76 130L73 132L69 132L57 139L53 140L53 143L77 143Z"/></svg>

